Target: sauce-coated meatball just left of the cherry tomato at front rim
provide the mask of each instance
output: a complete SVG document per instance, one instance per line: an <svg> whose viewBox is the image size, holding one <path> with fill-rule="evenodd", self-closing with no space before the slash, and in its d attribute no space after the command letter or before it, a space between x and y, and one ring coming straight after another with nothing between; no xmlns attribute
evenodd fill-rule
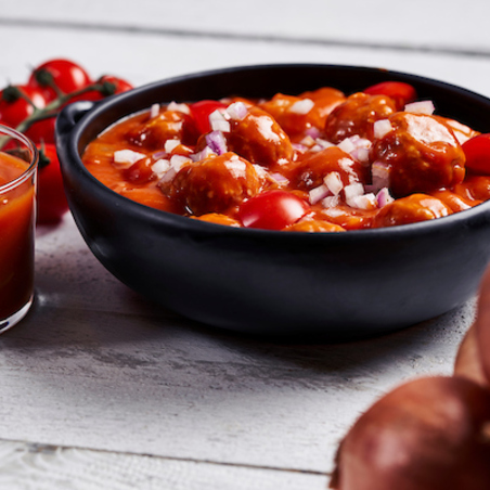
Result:
<svg viewBox="0 0 490 490"><path fill-rule="evenodd" d="M229 152L182 167L173 179L169 195L193 215L225 214L260 190L254 166Z"/></svg>

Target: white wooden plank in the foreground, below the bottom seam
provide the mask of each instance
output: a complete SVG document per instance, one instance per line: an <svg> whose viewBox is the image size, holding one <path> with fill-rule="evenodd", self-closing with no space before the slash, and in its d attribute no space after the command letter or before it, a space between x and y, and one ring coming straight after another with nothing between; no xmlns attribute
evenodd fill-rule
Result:
<svg viewBox="0 0 490 490"><path fill-rule="evenodd" d="M9 490L323 490L326 481L318 474L0 440L0 488Z"/></svg>

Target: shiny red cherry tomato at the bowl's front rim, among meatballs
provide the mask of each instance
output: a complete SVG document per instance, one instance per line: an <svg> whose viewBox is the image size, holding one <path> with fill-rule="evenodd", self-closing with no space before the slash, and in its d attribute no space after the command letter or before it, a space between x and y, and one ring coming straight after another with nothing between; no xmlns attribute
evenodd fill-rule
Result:
<svg viewBox="0 0 490 490"><path fill-rule="evenodd" d="M300 197L286 191L267 191L245 201L238 218L246 228L282 230L302 218L310 206Z"/></svg>

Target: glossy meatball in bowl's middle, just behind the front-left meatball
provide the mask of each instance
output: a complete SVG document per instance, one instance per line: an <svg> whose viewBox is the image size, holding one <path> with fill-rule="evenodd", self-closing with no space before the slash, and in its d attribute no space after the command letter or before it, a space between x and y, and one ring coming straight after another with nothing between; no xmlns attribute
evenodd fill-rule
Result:
<svg viewBox="0 0 490 490"><path fill-rule="evenodd" d="M228 147L254 164L270 167L293 158L289 137L274 118L258 107L249 107L242 120L230 121Z"/></svg>

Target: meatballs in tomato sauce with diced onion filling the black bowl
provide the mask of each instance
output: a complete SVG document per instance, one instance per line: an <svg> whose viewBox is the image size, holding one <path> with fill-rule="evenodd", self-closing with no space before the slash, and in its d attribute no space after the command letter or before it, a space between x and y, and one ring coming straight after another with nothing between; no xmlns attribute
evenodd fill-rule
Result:
<svg viewBox="0 0 490 490"><path fill-rule="evenodd" d="M407 224L490 198L490 166L465 167L463 144L479 133L415 100L412 87L386 82L154 104L101 133L82 160L143 205L288 232Z"/></svg>

